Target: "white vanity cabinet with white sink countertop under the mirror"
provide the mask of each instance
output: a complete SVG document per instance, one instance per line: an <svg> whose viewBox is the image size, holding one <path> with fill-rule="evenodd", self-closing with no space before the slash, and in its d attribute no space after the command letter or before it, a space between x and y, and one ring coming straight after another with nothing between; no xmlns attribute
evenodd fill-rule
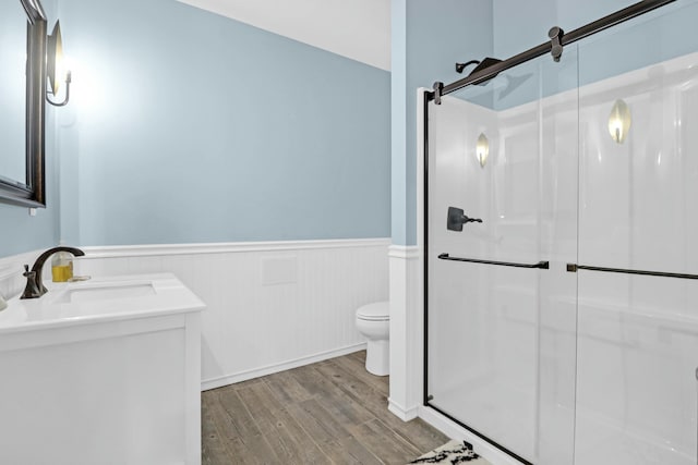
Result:
<svg viewBox="0 0 698 465"><path fill-rule="evenodd" d="M0 464L201 463L201 310L171 274L0 313Z"/></svg>

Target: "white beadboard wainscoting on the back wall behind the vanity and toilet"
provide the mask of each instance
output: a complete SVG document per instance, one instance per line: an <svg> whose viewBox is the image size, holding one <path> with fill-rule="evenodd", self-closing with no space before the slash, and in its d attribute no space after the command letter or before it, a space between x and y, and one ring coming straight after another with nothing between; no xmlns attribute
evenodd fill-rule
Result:
<svg viewBox="0 0 698 465"><path fill-rule="evenodd" d="M388 298L388 238L83 247L75 274L173 272L207 305L202 389L365 347L356 309ZM50 274L49 274L50 276Z"/></svg>

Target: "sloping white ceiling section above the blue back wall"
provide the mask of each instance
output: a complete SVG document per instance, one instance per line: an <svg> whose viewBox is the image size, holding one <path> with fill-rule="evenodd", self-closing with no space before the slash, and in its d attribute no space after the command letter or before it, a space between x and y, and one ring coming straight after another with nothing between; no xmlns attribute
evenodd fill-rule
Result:
<svg viewBox="0 0 698 465"><path fill-rule="evenodd" d="M178 0L390 70L390 0Z"/></svg>

